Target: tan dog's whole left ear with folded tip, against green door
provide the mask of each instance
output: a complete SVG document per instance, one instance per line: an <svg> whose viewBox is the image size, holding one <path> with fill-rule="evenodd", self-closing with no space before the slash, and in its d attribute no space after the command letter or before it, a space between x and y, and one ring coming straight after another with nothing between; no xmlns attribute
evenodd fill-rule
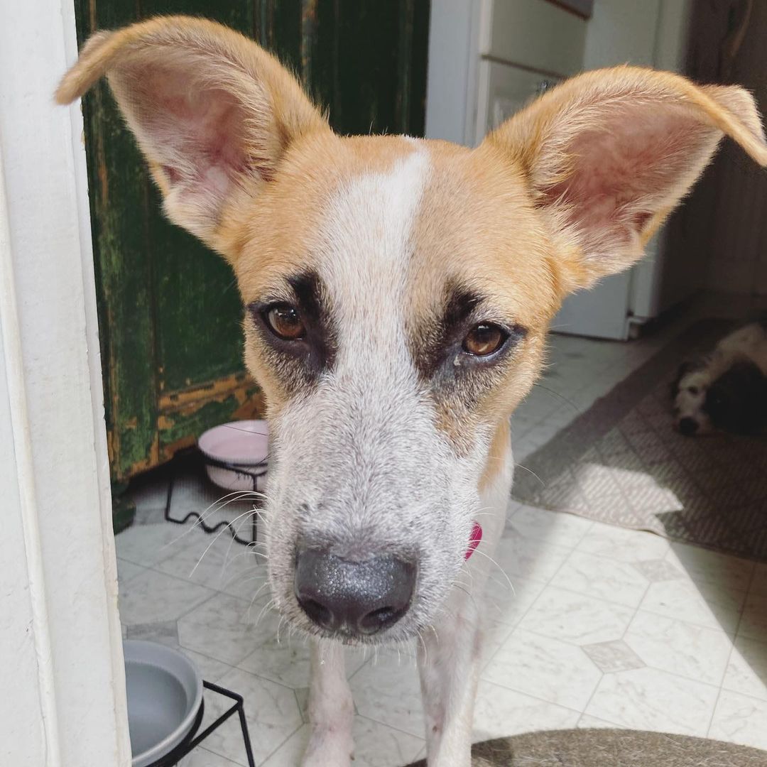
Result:
<svg viewBox="0 0 767 767"><path fill-rule="evenodd" d="M166 215L219 250L232 194L268 182L298 137L330 130L277 59L212 21L169 16L98 32L64 75L58 102L104 74Z"/></svg>

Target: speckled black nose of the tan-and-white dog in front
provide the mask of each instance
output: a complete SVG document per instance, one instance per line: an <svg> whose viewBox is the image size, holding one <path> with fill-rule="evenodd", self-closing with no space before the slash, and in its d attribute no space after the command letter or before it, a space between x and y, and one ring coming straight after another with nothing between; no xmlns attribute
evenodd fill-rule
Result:
<svg viewBox="0 0 767 767"><path fill-rule="evenodd" d="M353 562L324 551L299 551L295 595L312 621L354 636L377 634L407 612L416 568L391 555Z"/></svg>

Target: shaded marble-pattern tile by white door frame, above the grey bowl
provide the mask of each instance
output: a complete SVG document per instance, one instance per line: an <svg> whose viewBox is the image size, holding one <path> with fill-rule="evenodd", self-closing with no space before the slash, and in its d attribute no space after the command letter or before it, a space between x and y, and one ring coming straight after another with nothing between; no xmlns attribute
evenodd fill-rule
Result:
<svg viewBox="0 0 767 767"><path fill-rule="evenodd" d="M120 620L127 626L173 621L215 593L197 584L146 570L131 578L120 591Z"/></svg>

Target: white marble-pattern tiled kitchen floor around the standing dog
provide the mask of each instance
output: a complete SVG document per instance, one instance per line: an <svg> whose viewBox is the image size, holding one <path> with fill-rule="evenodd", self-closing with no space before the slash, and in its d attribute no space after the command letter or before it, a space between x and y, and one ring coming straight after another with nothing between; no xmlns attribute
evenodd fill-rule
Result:
<svg viewBox="0 0 767 767"><path fill-rule="evenodd" d="M542 386L512 419L518 461L524 465L678 326L631 344L553 337ZM307 737L307 648L265 611L256 556L225 536L202 556L211 536L161 522L164 482L136 489L141 524L117 536L124 631L182 647L206 679L242 693L259 765L298 765ZM208 501L184 482L174 512ZM476 739L618 726L767 749L767 565L515 504L497 559L515 591L494 574ZM393 767L423 755L413 657L350 651L347 668L357 706L355 765ZM210 700L206 718L217 710ZM183 765L245 763L230 722Z"/></svg>

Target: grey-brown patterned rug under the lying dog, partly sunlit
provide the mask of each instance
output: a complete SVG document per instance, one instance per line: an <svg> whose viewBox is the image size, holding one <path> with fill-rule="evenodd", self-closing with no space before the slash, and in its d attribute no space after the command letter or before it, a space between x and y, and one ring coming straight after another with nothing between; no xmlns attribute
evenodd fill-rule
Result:
<svg viewBox="0 0 767 767"><path fill-rule="evenodd" d="M528 456L513 497L767 561L767 438L673 429L670 384L680 361L732 327L700 321L670 341Z"/></svg>

